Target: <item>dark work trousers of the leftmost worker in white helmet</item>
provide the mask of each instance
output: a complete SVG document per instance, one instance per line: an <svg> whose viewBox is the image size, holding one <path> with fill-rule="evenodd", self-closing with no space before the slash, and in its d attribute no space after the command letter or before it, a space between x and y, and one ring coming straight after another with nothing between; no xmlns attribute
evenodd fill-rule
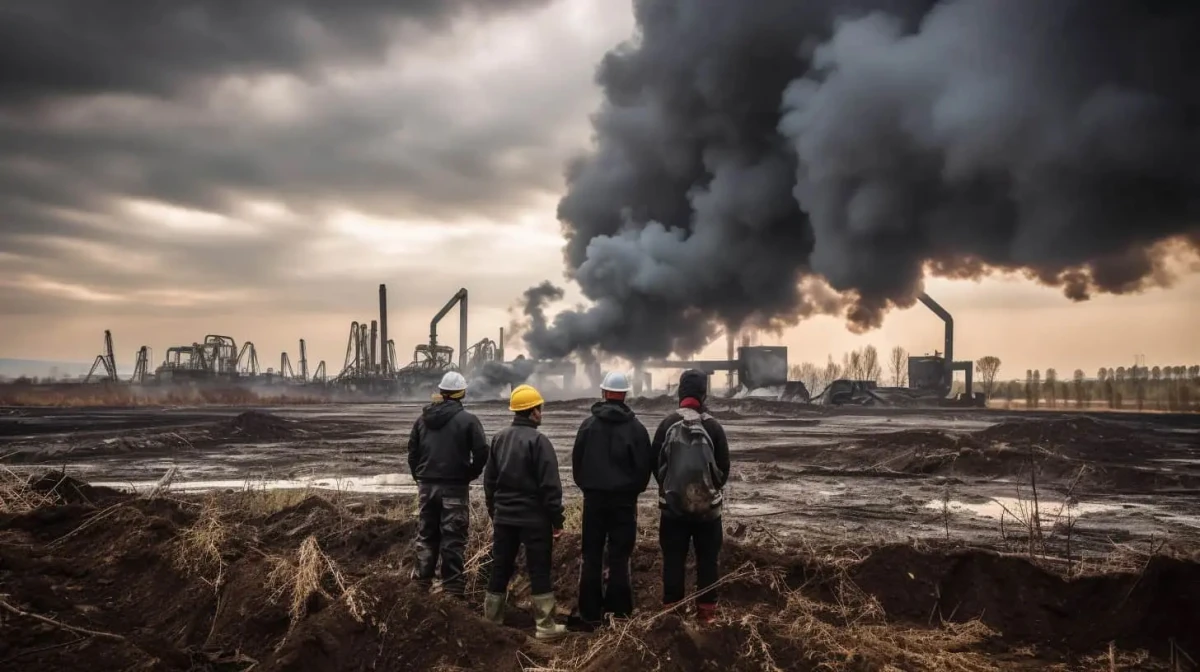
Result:
<svg viewBox="0 0 1200 672"><path fill-rule="evenodd" d="M442 588L451 595L462 595L466 577L462 574L470 529L469 487L466 485L419 484L420 524L416 529L416 566L413 578L433 582L433 570L442 556Z"/></svg>

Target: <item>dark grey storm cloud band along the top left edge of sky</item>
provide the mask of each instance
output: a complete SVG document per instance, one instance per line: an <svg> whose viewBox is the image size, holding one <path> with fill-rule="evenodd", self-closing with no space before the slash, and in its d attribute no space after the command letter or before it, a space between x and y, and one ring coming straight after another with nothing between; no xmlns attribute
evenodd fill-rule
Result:
<svg viewBox="0 0 1200 672"><path fill-rule="evenodd" d="M169 95L196 79L301 72L384 54L396 24L442 28L464 11L541 0L7 0L0 101Z"/></svg>

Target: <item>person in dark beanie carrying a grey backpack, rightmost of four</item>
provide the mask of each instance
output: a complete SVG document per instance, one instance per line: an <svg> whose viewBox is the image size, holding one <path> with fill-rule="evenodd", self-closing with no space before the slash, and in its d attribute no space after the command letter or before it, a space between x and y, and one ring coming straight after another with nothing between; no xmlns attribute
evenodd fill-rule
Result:
<svg viewBox="0 0 1200 672"><path fill-rule="evenodd" d="M659 546L662 548L662 604L684 598L689 547L696 551L696 614L702 623L716 618L718 556L721 552L721 504L730 475L730 444L725 428L709 415L708 376L689 368L679 376L679 409L662 419L654 432L659 484Z"/></svg>

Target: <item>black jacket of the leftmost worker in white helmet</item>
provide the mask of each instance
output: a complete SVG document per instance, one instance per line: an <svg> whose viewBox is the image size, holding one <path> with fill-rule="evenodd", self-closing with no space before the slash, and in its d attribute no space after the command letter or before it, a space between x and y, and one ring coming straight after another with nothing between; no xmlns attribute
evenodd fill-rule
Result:
<svg viewBox="0 0 1200 672"><path fill-rule="evenodd" d="M479 418L457 400L425 407L408 436L408 470L416 482L467 485L487 461L487 437Z"/></svg>

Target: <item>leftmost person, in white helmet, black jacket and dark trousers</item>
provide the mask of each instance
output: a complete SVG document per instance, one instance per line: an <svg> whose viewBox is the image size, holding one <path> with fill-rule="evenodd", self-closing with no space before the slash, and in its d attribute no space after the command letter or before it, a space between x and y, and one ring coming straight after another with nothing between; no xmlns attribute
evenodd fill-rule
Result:
<svg viewBox="0 0 1200 672"><path fill-rule="evenodd" d="M463 553L470 529L470 481L484 473L484 426L462 408L467 379L451 371L438 384L442 401L425 407L408 437L408 469L416 481L420 522L413 578L426 588L442 556L442 588L462 598Z"/></svg>

